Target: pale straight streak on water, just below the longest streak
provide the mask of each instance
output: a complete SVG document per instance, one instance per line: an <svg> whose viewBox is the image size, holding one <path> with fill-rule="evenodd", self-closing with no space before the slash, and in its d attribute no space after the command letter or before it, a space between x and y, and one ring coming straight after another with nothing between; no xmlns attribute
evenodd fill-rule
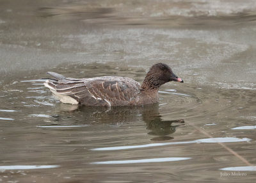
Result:
<svg viewBox="0 0 256 183"><path fill-rule="evenodd" d="M119 161L97 161L90 164L131 164L131 163L159 163L159 162L170 162L170 161L182 161L191 159L191 157L162 157L152 159L130 159L130 160L119 160Z"/></svg>

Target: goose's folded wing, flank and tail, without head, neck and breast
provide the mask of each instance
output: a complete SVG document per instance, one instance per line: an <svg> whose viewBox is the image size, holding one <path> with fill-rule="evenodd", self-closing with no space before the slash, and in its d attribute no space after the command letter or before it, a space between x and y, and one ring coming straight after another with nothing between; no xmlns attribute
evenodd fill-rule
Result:
<svg viewBox="0 0 256 183"><path fill-rule="evenodd" d="M45 86L50 88L58 99L62 96L76 101L67 102L60 99L65 103L86 106L131 105L132 102L136 102L136 97L140 93L140 84L127 77L105 76L76 79L52 72L49 74L57 81L49 79L45 81Z"/></svg>

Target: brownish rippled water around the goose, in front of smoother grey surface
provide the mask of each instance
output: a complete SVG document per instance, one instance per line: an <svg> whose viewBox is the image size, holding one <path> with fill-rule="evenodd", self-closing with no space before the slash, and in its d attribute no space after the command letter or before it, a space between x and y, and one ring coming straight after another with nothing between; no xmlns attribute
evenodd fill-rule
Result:
<svg viewBox="0 0 256 183"><path fill-rule="evenodd" d="M145 76L140 68L106 64L68 68L52 71L70 77L114 74L140 82ZM42 77L45 70L1 90L3 181L255 180L253 165L248 168L220 145L254 162L254 90L167 83L159 104L77 107L54 99L38 80ZM246 177L221 177L224 171L243 171Z"/></svg>

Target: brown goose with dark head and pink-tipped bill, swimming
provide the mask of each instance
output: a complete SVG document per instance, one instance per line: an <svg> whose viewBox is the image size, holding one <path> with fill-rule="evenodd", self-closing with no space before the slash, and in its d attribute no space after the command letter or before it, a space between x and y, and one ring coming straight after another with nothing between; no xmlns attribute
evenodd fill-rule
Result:
<svg viewBox="0 0 256 183"><path fill-rule="evenodd" d="M47 72L56 79L44 85L63 103L84 106L140 106L158 102L159 87L169 81L183 83L164 63L153 65L140 85L128 77L103 76L84 79Z"/></svg>

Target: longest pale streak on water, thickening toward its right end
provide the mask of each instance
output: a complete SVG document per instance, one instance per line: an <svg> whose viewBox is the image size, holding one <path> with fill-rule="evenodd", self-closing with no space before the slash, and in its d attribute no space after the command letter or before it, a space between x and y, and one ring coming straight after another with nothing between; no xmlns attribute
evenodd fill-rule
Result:
<svg viewBox="0 0 256 183"><path fill-rule="evenodd" d="M127 145L119 147L102 147L102 148L92 148L91 150L124 150L131 148L147 148L147 147L159 147L165 145L179 145L179 144L188 144L188 143L228 143L228 142L241 142L241 141L250 141L248 138L205 138L205 139L196 139L194 141L176 141L168 143L150 143L145 145Z"/></svg>

